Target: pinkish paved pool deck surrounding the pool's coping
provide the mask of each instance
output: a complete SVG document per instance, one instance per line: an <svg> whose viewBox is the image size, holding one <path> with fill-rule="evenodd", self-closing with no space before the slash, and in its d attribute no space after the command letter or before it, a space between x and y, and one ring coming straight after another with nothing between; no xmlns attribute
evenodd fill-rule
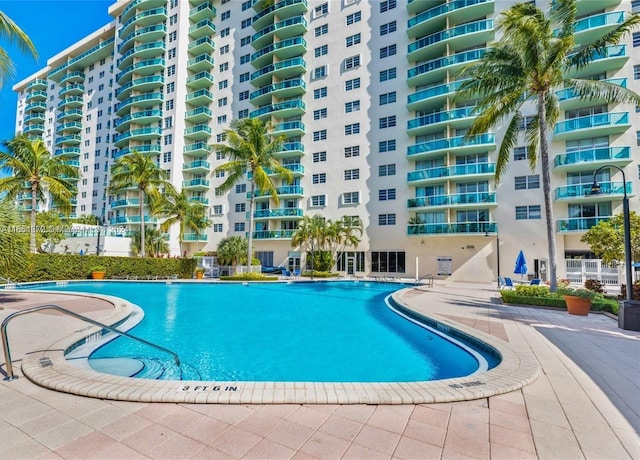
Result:
<svg viewBox="0 0 640 460"><path fill-rule="evenodd" d="M2 293L0 318L44 303L113 314L107 301L45 297ZM601 314L504 306L495 285L436 282L404 302L528 351L541 371L504 394L402 405L111 401L21 377L0 382L0 458L640 458L640 333ZM55 312L16 318L14 369L84 328Z"/></svg>

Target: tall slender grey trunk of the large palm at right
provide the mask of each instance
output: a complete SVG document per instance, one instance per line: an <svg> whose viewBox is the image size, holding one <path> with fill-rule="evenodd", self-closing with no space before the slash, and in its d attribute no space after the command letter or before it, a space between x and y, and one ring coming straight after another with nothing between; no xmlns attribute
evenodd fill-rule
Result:
<svg viewBox="0 0 640 460"><path fill-rule="evenodd" d="M544 212L547 220L547 246L549 250L549 290L557 289L556 232L551 200L551 167L549 164L549 141L547 139L547 113L545 112L546 94L538 94L538 119L540 130L540 161L542 164L542 190L544 192Z"/></svg>

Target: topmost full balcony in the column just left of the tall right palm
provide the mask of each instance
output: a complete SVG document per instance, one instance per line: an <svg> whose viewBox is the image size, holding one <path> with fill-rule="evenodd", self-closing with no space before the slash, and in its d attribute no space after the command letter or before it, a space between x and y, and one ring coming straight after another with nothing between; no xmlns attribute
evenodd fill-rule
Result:
<svg viewBox="0 0 640 460"><path fill-rule="evenodd" d="M493 3L493 0L458 0L434 6L409 19L407 35L416 38L444 29L447 18L451 23L461 24L487 16L493 12Z"/></svg>

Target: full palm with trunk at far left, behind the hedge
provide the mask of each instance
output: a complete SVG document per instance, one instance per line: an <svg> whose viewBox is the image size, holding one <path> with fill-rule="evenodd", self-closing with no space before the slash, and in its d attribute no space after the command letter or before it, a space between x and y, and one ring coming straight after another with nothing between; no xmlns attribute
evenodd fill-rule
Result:
<svg viewBox="0 0 640 460"><path fill-rule="evenodd" d="M0 178L0 193L16 199L27 187L31 190L31 240L30 250L36 252L36 209L45 202L45 192L54 203L68 214L71 198L76 192L72 179L78 177L78 169L51 155L42 139L31 140L20 134L4 142L8 152L0 152L0 168L8 173Z"/></svg>

